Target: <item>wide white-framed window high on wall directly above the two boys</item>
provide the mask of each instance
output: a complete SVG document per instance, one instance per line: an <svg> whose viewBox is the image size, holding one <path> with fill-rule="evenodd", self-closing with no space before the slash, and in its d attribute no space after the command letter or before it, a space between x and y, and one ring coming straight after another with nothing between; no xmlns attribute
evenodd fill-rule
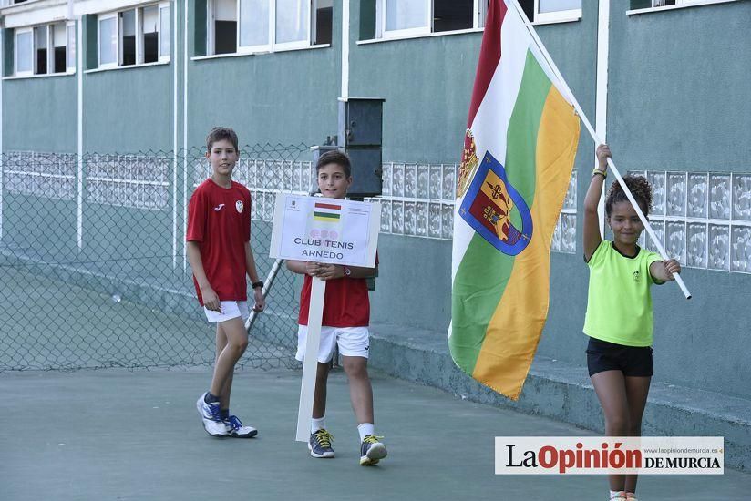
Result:
<svg viewBox="0 0 751 501"><path fill-rule="evenodd" d="M209 0L207 54L330 44L333 0Z"/></svg>

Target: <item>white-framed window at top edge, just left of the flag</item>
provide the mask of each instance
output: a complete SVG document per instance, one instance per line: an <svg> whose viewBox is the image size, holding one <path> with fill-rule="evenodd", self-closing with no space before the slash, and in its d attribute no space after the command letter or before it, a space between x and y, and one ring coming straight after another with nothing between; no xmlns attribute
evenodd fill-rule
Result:
<svg viewBox="0 0 751 501"><path fill-rule="evenodd" d="M376 37L399 38L479 28L487 0L378 0Z"/></svg>

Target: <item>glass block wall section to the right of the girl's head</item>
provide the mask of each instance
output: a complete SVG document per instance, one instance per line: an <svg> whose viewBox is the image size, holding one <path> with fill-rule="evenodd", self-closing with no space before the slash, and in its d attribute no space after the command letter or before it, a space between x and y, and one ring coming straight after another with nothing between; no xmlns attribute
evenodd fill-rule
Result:
<svg viewBox="0 0 751 501"><path fill-rule="evenodd" d="M751 174L636 171L653 187L650 221L685 266L751 273ZM656 251L646 232L640 243Z"/></svg>

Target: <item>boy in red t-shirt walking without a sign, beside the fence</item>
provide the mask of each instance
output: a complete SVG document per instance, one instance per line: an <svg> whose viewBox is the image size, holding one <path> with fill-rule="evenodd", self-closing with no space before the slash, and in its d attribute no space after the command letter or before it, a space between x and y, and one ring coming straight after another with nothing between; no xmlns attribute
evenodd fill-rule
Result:
<svg viewBox="0 0 751 501"><path fill-rule="evenodd" d="M216 363L211 388L196 402L203 428L213 436L248 438L258 431L230 414L234 366L248 346L245 275L251 279L253 310L263 310L263 282L251 250L251 192L231 180L239 151L231 128L213 128L206 138L211 178L193 192L188 206L188 261L198 301L216 322Z"/></svg>

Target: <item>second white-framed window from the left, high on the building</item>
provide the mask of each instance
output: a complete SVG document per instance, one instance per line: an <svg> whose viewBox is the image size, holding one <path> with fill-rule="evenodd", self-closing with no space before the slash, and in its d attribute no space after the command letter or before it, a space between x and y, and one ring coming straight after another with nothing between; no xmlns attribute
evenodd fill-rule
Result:
<svg viewBox="0 0 751 501"><path fill-rule="evenodd" d="M98 67L170 60L170 4L98 16Z"/></svg>

